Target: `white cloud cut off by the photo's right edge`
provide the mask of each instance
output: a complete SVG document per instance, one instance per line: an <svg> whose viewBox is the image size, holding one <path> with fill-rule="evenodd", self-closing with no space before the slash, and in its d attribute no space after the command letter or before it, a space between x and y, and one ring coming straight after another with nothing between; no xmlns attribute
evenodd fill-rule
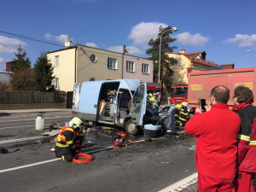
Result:
<svg viewBox="0 0 256 192"><path fill-rule="evenodd" d="M256 34L253 35L241 35L236 34L235 38L228 38L224 41L227 44L238 44L239 47L249 47L256 44Z"/></svg>

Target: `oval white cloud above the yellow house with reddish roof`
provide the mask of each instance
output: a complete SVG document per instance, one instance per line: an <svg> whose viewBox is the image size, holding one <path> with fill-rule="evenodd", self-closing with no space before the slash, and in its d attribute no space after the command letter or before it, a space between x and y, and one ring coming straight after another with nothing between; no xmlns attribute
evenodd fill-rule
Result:
<svg viewBox="0 0 256 192"><path fill-rule="evenodd" d="M203 37L200 33L190 34L190 32L183 32L175 35L177 42L180 44L189 44L194 46L204 46L208 43L208 37Z"/></svg>

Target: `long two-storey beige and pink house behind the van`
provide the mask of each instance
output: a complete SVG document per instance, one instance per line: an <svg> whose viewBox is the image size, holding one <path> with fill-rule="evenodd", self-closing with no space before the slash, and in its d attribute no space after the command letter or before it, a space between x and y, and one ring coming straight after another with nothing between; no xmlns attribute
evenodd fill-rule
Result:
<svg viewBox="0 0 256 192"><path fill-rule="evenodd" d="M47 52L54 67L55 89L72 91L73 84L110 79L153 82L153 61L81 44L67 38L64 49Z"/></svg>

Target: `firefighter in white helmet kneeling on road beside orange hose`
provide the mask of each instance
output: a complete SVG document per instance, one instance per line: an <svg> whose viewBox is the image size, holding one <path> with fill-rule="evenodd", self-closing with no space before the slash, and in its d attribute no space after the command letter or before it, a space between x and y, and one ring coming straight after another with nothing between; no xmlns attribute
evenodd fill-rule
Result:
<svg viewBox="0 0 256 192"><path fill-rule="evenodd" d="M78 149L84 141L83 125L81 119L74 117L69 122L69 126L66 125L61 129L56 142L56 157L62 158L62 160L66 160L67 162L73 160L76 149Z"/></svg>

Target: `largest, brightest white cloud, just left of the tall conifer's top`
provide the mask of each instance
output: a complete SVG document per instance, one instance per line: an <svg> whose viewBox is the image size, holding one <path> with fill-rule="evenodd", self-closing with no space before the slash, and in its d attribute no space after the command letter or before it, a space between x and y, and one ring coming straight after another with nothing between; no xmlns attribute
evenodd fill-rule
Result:
<svg viewBox="0 0 256 192"><path fill-rule="evenodd" d="M132 39L134 44L146 47L151 38L157 38L160 26L167 27L166 24L159 22L141 22L131 28L128 38Z"/></svg>

